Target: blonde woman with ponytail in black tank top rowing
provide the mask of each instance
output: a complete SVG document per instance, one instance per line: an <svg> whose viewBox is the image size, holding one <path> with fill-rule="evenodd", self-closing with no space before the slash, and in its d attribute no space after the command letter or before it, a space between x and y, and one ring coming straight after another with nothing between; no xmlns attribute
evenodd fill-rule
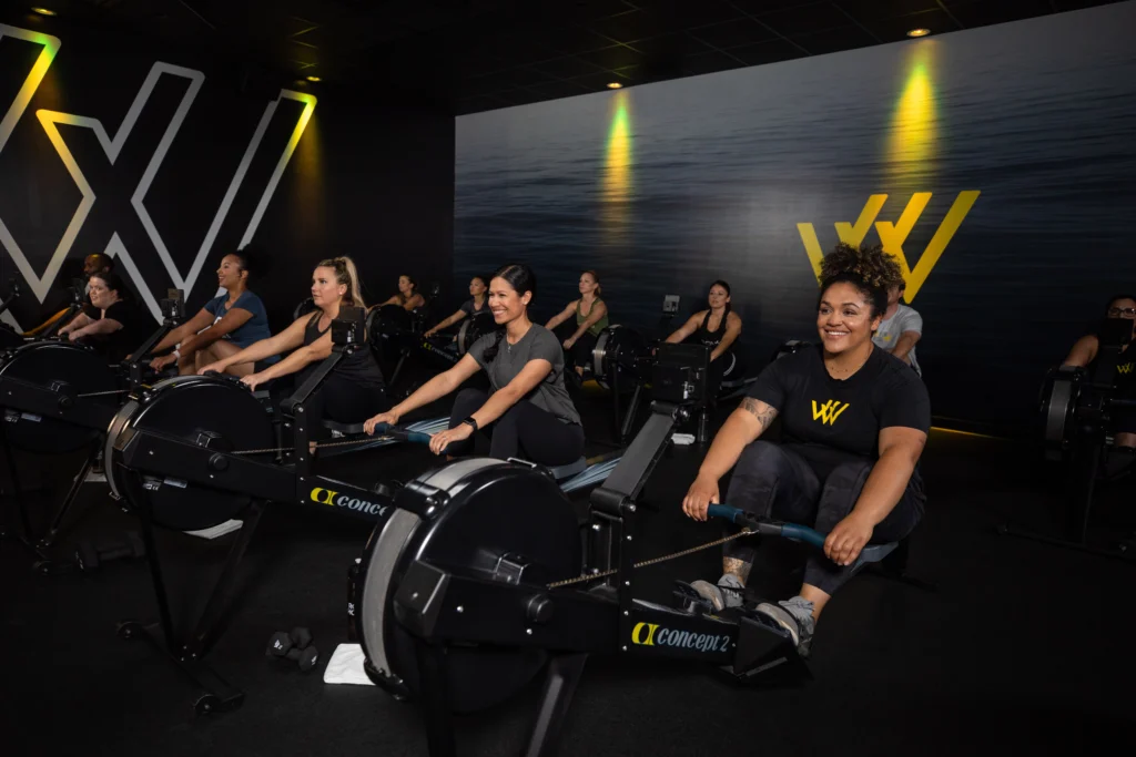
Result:
<svg viewBox="0 0 1136 757"><path fill-rule="evenodd" d="M292 353L278 363L257 373L250 373L241 382L250 389L265 381L299 373L298 384L311 375L316 365L332 354L332 321L340 314L341 306L366 308L359 293L359 276L350 258L323 260L311 275L311 300L316 312L296 319L291 326L267 339L256 342L225 360L210 363L206 371L222 372L232 363L257 362L287 351ZM361 422L390 407L383 384L383 373L370 350L359 350L344 356L335 365L318 392L312 411L340 423ZM311 415L308 417L311 420Z"/></svg>

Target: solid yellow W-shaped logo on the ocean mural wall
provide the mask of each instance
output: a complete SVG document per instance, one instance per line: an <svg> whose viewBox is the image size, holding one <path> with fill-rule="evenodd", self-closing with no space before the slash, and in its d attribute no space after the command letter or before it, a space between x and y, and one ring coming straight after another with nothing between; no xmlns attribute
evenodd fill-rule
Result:
<svg viewBox="0 0 1136 757"><path fill-rule="evenodd" d="M884 252L895 255L900 268L903 269L903 280L908 285L904 298L908 302L913 301L916 295L919 294L919 289L927 281L927 277L930 276L935 263L938 262L943 251L946 250L946 245L951 242L954 233L962 226L962 219L970 212L970 208L974 207L980 192L972 190L959 193L959 196L951 204L951 209L946 211L943 222L935 230L935 236L932 237L927 244L927 249L919 256L919 262L916 263L914 270L911 270L911 267L908 264L908 258L903 253L903 243L907 241L908 235L911 234L911 229L919 221L919 217L922 216L927 203L930 202L930 192L917 192L912 194L911 200L908 201L908 207L903 209L903 213L896 224L876 220L884 203L887 201L886 194L874 194L868 197L868 202L864 204L863 210L860 211L860 218L857 219L855 224L836 224L836 234L840 236L841 242L846 242L852 246L859 246L868 235L872 222L876 224L876 233L879 234ZM809 260L812 262L812 270L819 278L820 261L824 260L825 253L821 251L820 242L817 239L817 232L812 228L812 224L797 224L796 230L801 233L801 241L804 242L804 251L809 254Z"/></svg>

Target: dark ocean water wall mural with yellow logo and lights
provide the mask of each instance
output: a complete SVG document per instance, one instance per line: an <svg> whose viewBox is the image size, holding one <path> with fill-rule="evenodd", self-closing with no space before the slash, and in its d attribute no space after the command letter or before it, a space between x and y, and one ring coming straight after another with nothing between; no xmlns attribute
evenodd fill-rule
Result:
<svg viewBox="0 0 1136 757"><path fill-rule="evenodd" d="M1136 289L1136 3L465 116L454 285L600 271L658 327L726 278L751 365L815 338L820 256L901 258L934 411L1018 424L1114 289Z"/></svg>

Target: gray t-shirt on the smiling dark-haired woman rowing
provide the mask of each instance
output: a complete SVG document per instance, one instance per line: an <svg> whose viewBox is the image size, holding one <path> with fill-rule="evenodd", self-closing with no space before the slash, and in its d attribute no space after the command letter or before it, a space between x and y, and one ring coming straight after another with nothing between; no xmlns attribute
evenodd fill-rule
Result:
<svg viewBox="0 0 1136 757"><path fill-rule="evenodd" d="M579 424L579 413L576 412L576 406L568 396L568 389L565 388L565 353L552 331L533 323L517 344L510 345L508 337L502 337L496 358L493 362L486 363L485 351L496 342L496 338L498 331L492 331L477 339L469 348L469 355L490 377L493 390L508 386L509 381L524 370L528 361L546 360L552 363L552 370L525 399L566 423Z"/></svg>

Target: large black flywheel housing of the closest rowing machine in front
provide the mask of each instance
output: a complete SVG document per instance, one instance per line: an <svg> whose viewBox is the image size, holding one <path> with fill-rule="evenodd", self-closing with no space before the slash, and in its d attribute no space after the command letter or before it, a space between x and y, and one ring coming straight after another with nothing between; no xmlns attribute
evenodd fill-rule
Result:
<svg viewBox="0 0 1136 757"><path fill-rule="evenodd" d="M399 623L394 596L415 561L490 581L532 586L577 575L580 541L571 503L546 473L527 465L467 459L425 473L395 498L391 519L377 527L360 561L356 629L367 668L387 690L418 693L414 637ZM524 623L516 616L470 619ZM520 691L548 662L543 649L490 645L449 649L449 693L454 712L492 707Z"/></svg>

